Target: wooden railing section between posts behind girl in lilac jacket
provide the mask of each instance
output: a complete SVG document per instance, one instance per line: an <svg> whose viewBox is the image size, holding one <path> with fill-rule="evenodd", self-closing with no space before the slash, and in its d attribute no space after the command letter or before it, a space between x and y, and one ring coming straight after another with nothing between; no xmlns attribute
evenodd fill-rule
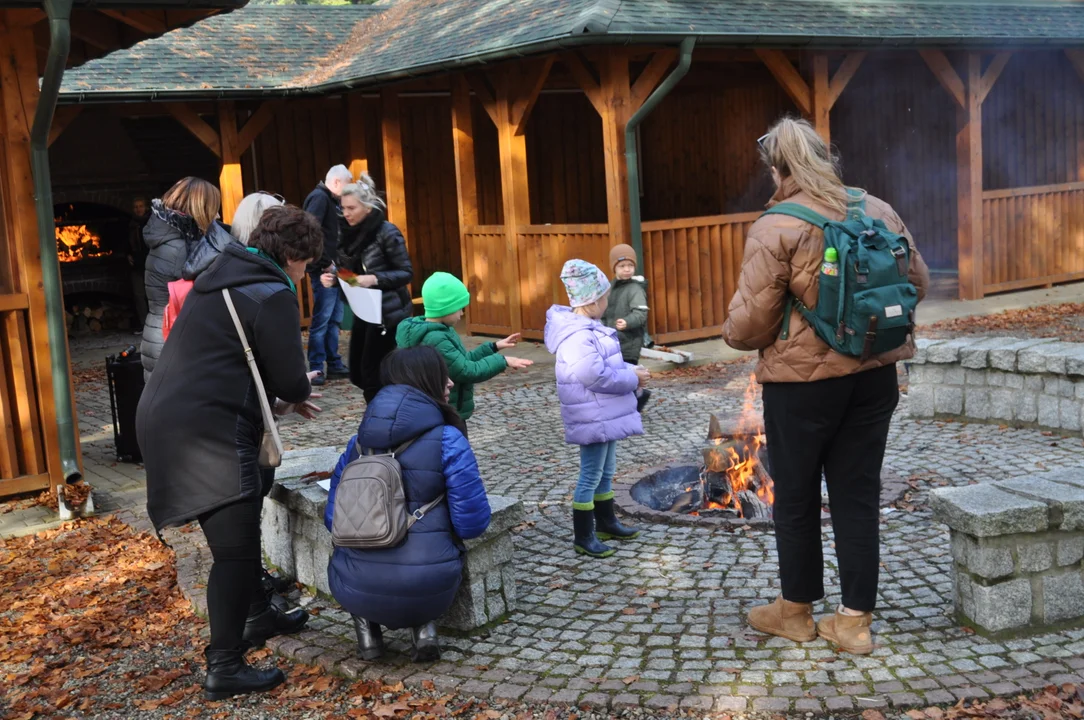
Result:
<svg viewBox="0 0 1084 720"><path fill-rule="evenodd" d="M542 338L545 311L554 303L568 304L560 282L566 261L581 258L606 269L609 260L609 228L605 224L549 224L516 228L519 253L520 317L524 336ZM607 273L608 274L608 273Z"/></svg>

